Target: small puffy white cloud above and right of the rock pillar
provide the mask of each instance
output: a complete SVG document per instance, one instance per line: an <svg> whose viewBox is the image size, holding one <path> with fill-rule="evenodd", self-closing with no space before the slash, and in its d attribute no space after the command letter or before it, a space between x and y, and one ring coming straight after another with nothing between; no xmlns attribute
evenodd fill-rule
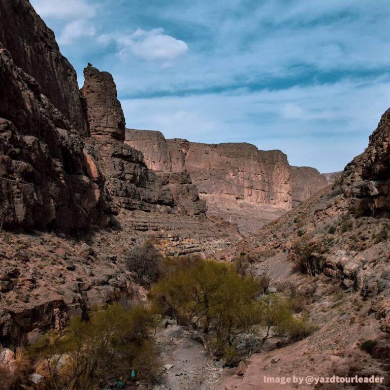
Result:
<svg viewBox="0 0 390 390"><path fill-rule="evenodd" d="M188 50L184 41L164 34L164 28L154 28L150 31L138 28L133 34L111 34L100 37L100 42L107 44L114 41L121 58L134 54L147 60L169 61L181 56Z"/></svg>

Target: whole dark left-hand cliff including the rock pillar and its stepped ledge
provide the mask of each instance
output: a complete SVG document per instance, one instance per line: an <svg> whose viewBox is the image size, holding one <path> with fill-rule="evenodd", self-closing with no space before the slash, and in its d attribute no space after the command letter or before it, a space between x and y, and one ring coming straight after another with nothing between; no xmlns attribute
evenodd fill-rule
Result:
<svg viewBox="0 0 390 390"><path fill-rule="evenodd" d="M142 153L124 144L123 111L109 73L86 68L80 92L53 32L28 1L1 2L0 18L6 228L78 233L107 226L118 207L204 215L188 175L161 183Z"/></svg>

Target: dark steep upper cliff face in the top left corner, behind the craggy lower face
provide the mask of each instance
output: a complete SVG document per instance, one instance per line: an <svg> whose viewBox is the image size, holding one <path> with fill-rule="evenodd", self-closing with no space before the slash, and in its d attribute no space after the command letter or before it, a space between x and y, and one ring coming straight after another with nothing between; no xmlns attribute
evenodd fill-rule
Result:
<svg viewBox="0 0 390 390"><path fill-rule="evenodd" d="M26 0L2 0L0 20L0 42L10 52L15 66L34 77L40 92L79 134L85 134L76 72L59 52L53 31Z"/></svg>

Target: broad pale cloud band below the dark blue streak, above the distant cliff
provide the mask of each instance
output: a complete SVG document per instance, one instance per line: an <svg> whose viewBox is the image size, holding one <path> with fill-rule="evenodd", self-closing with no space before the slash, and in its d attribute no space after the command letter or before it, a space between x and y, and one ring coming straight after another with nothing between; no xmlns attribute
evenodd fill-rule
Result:
<svg viewBox="0 0 390 390"><path fill-rule="evenodd" d="M259 149L282 150L291 165L334 172L363 152L389 102L390 83L379 78L242 94L122 100L122 107L132 128L194 142L250 142Z"/></svg>

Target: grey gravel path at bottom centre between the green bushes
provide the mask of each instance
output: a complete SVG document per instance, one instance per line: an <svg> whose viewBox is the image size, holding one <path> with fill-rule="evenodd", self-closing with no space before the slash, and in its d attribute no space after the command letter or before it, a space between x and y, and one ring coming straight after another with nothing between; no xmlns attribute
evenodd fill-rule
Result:
<svg viewBox="0 0 390 390"><path fill-rule="evenodd" d="M154 386L154 390L209 390L218 380L223 371L221 364L190 336L186 328L176 325L157 331L161 363L173 367L164 370L165 383Z"/></svg>

